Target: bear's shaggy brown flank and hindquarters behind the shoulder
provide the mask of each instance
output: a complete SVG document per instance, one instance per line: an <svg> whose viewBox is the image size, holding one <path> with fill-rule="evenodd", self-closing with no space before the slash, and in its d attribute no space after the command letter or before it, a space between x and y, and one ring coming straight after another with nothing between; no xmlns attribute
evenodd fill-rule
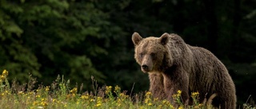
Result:
<svg viewBox="0 0 256 109"><path fill-rule="evenodd" d="M218 97L226 96L222 95L223 93L234 94L234 83L225 65L207 49L190 45L188 47L194 56L194 72L190 75L190 78L198 78L190 81L190 89L201 91L201 97L206 95L206 98L214 93L218 94ZM235 98L232 95L227 97Z"/></svg>

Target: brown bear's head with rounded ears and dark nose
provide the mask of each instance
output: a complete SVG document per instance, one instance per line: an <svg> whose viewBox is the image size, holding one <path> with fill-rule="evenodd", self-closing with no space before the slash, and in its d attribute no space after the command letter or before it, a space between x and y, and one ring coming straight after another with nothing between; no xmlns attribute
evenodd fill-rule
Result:
<svg viewBox="0 0 256 109"><path fill-rule="evenodd" d="M161 37L142 38L138 33L132 35L135 46L134 58L141 66L142 72L162 72L172 64L168 42L170 34L163 33Z"/></svg>

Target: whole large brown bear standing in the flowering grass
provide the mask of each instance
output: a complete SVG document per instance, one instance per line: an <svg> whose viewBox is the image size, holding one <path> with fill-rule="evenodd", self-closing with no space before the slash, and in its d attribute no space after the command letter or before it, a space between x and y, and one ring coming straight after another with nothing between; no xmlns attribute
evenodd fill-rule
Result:
<svg viewBox="0 0 256 109"><path fill-rule="evenodd" d="M213 53L187 45L177 34L142 38L132 35L134 58L150 78L150 92L159 99L169 99L182 91L184 103L191 103L191 92L199 92L199 102L210 99L214 107L235 109L234 82L226 67Z"/></svg>

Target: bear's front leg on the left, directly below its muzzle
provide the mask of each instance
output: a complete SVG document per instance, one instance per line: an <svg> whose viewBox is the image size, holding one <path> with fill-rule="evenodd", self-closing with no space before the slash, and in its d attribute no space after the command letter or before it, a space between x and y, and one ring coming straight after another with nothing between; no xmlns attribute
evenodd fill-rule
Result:
<svg viewBox="0 0 256 109"><path fill-rule="evenodd" d="M162 74L149 74L150 77L150 92L154 98L166 99L166 93L163 85Z"/></svg>

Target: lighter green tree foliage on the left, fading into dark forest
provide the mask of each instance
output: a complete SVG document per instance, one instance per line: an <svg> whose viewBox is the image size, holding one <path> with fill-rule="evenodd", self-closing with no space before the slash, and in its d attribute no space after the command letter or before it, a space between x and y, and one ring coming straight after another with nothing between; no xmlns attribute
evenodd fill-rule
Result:
<svg viewBox="0 0 256 109"><path fill-rule="evenodd" d="M24 82L31 73L52 80L57 72L86 84L90 76L103 82L90 56L107 53L97 40L106 38L98 32L108 21L93 2L1 2L1 66L16 73L12 78Z"/></svg>

